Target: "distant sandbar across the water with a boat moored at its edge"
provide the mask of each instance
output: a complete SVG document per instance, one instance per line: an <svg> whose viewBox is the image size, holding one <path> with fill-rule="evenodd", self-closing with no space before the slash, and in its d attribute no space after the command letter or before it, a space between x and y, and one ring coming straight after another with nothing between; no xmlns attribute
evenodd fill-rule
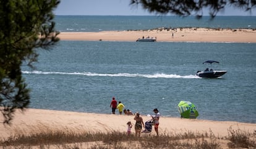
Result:
<svg viewBox="0 0 256 149"><path fill-rule="evenodd" d="M142 36L156 37L166 42L234 42L256 43L256 30L252 29L212 29L212 28L159 28L156 30L129 30L103 32L61 32L61 40L85 41L136 41Z"/></svg>

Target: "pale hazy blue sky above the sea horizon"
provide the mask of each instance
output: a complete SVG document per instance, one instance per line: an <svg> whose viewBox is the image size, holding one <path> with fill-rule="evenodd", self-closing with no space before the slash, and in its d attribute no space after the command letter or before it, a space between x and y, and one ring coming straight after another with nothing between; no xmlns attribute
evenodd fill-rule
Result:
<svg viewBox="0 0 256 149"><path fill-rule="evenodd" d="M56 15L156 15L149 13L140 6L130 6L130 0L61 0L54 10ZM208 12L203 11L203 15ZM251 13L240 9L226 7L217 15L256 15L256 9Z"/></svg>

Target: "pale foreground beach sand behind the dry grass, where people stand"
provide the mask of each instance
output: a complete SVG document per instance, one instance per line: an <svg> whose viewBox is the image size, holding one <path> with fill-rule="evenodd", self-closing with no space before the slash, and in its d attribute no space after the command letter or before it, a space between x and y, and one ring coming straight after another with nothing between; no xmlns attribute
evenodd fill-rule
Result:
<svg viewBox="0 0 256 149"><path fill-rule="evenodd" d="M109 108L109 113L111 109ZM153 114L153 111L151 111ZM146 122L151 117L142 116ZM0 116L0 121L3 117ZM95 113L77 113L70 111L54 111L45 109L27 109L25 113L17 111L11 126L0 124L0 139L14 136L18 132L22 134L35 131L33 128L45 129L71 129L88 130L92 132L126 132L126 123L131 121L135 124L133 115L119 114L95 114ZM255 133L256 124L232 122L232 121L207 121L202 119L181 119L178 117L160 117L159 131L163 134L180 134L185 132L210 132L216 136L227 136L228 129L241 129L250 133ZM134 127L132 133L135 133ZM155 135L155 130L151 134Z"/></svg>

